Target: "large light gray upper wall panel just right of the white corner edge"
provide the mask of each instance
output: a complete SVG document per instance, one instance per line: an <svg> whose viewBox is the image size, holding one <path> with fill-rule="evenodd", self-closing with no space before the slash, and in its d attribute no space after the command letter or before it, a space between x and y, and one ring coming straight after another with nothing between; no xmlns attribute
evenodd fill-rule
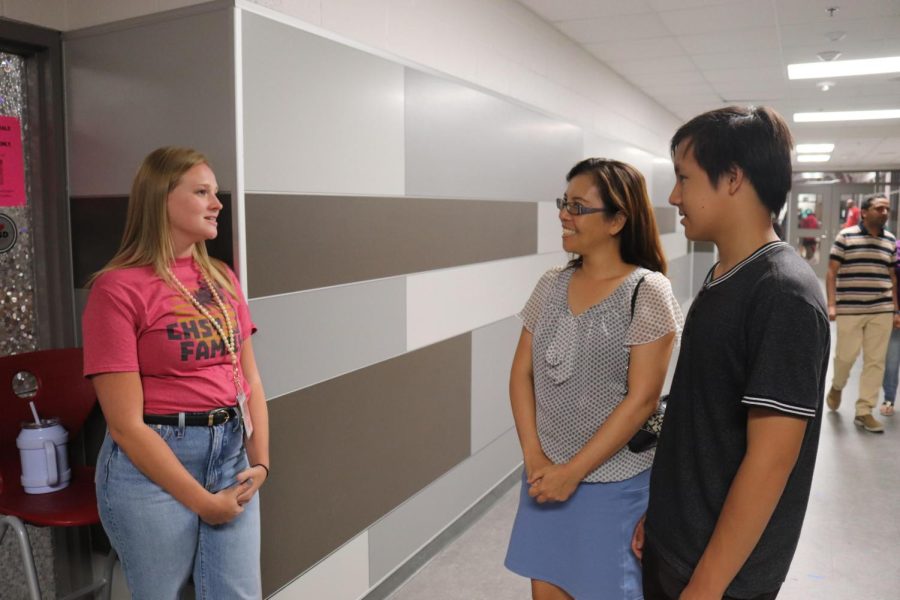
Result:
<svg viewBox="0 0 900 600"><path fill-rule="evenodd" d="M403 194L403 67L244 12L250 191Z"/></svg>

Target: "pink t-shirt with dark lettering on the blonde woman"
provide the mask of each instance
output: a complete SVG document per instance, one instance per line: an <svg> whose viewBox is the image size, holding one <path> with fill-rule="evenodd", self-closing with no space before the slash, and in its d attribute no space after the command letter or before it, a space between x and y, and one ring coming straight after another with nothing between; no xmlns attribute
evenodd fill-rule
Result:
<svg viewBox="0 0 900 600"><path fill-rule="evenodd" d="M172 272L224 330L222 311L193 258L178 259ZM256 327L237 278L228 273L237 299L224 289L217 291L232 325L238 328L240 359L242 342ZM236 404L231 358L218 331L153 267L117 269L98 277L84 310L82 332L85 376L137 371L144 389L144 414L199 412ZM249 397L243 373L241 381Z"/></svg>

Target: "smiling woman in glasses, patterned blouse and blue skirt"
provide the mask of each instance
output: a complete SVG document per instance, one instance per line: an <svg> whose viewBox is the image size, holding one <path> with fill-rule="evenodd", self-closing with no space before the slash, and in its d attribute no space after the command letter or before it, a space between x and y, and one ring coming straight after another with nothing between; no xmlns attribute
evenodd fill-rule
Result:
<svg viewBox="0 0 900 600"><path fill-rule="evenodd" d="M626 443L656 410L683 319L643 176L590 158L566 181L556 203L576 257L519 315L509 394L525 473L506 566L535 600L637 600L629 533L653 451Z"/></svg>

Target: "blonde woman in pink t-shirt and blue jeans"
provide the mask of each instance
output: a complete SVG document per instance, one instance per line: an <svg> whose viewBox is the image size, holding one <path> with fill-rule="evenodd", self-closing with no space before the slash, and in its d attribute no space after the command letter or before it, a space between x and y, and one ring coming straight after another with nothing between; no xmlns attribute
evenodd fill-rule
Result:
<svg viewBox="0 0 900 600"><path fill-rule="evenodd" d="M84 312L84 373L108 425L100 517L136 599L180 598L191 578L198 598L262 596L268 415L247 302L206 253L217 191L202 154L147 156Z"/></svg>

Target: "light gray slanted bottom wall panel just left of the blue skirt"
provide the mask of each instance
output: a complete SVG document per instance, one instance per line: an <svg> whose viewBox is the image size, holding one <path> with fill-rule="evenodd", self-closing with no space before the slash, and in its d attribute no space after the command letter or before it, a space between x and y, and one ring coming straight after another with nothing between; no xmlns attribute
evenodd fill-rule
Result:
<svg viewBox="0 0 900 600"><path fill-rule="evenodd" d="M509 430L373 525L369 529L370 583L393 571L521 461L518 437Z"/></svg>

